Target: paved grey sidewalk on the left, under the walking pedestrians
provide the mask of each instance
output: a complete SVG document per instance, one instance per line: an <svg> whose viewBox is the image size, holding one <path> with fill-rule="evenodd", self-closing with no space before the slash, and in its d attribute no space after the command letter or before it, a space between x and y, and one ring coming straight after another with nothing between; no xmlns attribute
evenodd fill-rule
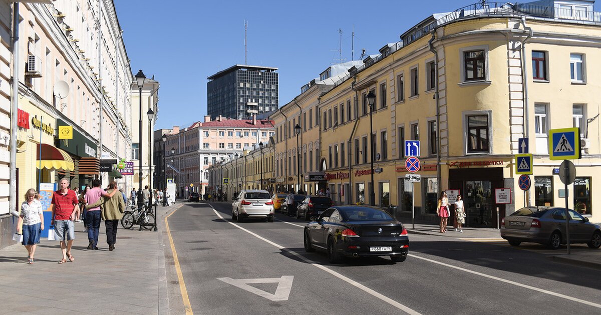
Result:
<svg viewBox="0 0 601 315"><path fill-rule="evenodd" d="M168 314L163 214L160 232L125 230L119 224L115 250L106 244L100 224L99 250L87 250L83 223L75 223L72 255L75 262L58 264L59 242L42 238L28 265L20 243L0 250L0 295L3 314Z"/></svg>

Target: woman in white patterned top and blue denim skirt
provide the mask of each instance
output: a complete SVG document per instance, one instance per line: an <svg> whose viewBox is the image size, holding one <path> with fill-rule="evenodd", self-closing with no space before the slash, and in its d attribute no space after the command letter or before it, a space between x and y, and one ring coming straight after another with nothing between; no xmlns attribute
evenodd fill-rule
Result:
<svg viewBox="0 0 601 315"><path fill-rule="evenodd" d="M30 188L25 193L25 201L21 204L21 213L17 223L17 233L23 232L23 241L27 249L29 265L34 264L35 247L40 243L41 231L44 229L44 214L35 189ZM23 224L23 225L21 225Z"/></svg>

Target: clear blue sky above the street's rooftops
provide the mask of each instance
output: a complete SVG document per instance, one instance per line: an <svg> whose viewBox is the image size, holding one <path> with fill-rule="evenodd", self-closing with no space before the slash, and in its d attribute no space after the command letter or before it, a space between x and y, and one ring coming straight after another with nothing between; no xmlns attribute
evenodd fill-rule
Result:
<svg viewBox="0 0 601 315"><path fill-rule="evenodd" d="M279 68L279 105L329 65L361 50L379 53L432 13L478 0L203 1L114 0L133 74L160 82L155 129L189 125L207 113L207 77L245 64ZM531 2L528 0L520 2ZM597 9L597 5L596 5ZM595 10L597 11L597 10ZM342 29L342 45L340 34Z"/></svg>

